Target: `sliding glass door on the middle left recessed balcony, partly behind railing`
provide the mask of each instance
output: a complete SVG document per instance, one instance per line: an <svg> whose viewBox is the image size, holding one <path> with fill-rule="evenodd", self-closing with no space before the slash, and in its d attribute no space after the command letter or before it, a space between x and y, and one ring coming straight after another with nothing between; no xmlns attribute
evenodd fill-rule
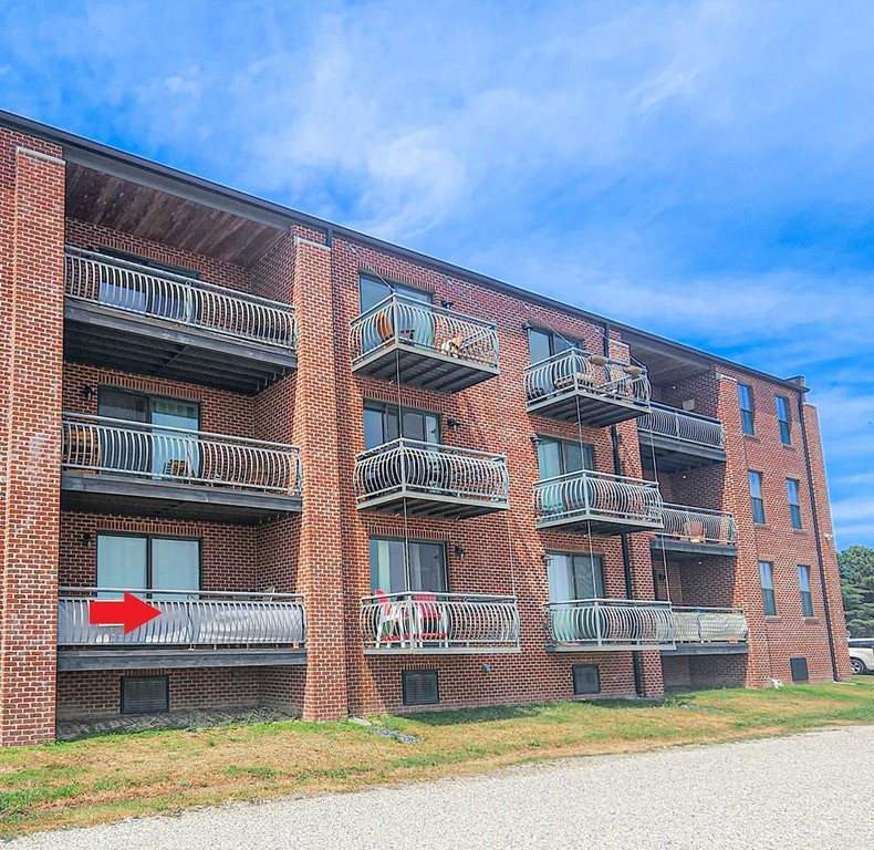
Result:
<svg viewBox="0 0 874 850"><path fill-rule="evenodd" d="M121 435L108 432L101 440L103 465L107 468L183 478L199 477L197 438L171 431L162 432L162 426L199 431L200 406L197 403L102 386L97 396L97 413L113 419L157 426L150 428L150 433L165 437L148 440L148 450L143 452L136 450Z"/></svg>

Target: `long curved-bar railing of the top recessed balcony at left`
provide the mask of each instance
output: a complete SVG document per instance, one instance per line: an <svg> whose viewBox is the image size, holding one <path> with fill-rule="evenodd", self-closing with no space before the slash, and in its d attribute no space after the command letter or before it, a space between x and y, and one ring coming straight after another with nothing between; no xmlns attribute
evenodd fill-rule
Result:
<svg viewBox="0 0 874 850"><path fill-rule="evenodd" d="M293 350L290 304L67 247L64 291L128 313Z"/></svg>

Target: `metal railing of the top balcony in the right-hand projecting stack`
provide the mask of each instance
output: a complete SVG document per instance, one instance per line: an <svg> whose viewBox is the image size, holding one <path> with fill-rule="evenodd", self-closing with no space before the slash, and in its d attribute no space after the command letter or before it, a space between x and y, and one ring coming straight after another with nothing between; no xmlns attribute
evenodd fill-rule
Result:
<svg viewBox="0 0 874 850"><path fill-rule="evenodd" d="M651 386L643 366L580 349L561 351L526 369L529 404L574 393L648 408Z"/></svg>

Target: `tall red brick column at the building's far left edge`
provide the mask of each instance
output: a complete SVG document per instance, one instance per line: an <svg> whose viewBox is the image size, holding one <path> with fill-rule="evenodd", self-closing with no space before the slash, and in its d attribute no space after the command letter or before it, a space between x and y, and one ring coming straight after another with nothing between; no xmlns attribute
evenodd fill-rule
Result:
<svg viewBox="0 0 874 850"><path fill-rule="evenodd" d="M0 242L8 272L0 744L13 746L54 738L64 164L8 142L0 138L0 179L13 184L0 228L11 240Z"/></svg>

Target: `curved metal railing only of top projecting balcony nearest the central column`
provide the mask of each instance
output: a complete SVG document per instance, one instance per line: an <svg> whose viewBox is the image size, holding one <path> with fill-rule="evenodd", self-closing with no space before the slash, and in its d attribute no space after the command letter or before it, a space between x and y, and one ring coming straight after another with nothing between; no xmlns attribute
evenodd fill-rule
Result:
<svg viewBox="0 0 874 850"><path fill-rule="evenodd" d="M498 367L498 331L493 322L397 292L352 322L350 345L353 367L392 345L487 369Z"/></svg>

